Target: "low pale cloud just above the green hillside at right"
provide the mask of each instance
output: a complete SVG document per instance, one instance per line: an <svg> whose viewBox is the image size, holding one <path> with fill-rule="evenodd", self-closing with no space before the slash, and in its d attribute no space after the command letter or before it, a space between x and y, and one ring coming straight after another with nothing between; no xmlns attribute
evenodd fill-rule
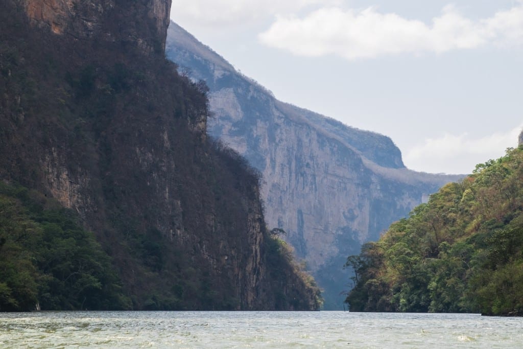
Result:
<svg viewBox="0 0 523 349"><path fill-rule="evenodd" d="M426 139L405 152L404 162L412 170L434 173L472 173L476 164L503 156L505 149L516 147L523 123L506 132L474 138L468 133L446 133Z"/></svg>

